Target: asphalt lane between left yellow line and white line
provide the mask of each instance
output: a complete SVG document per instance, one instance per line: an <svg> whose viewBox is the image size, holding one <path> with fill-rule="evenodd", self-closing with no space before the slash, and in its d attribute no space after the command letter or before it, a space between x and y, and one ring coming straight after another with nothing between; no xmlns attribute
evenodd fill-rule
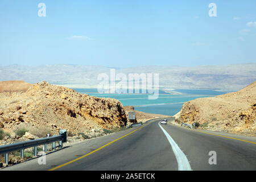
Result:
<svg viewBox="0 0 256 182"><path fill-rule="evenodd" d="M177 162L166 136L150 123L64 170L177 170Z"/></svg>

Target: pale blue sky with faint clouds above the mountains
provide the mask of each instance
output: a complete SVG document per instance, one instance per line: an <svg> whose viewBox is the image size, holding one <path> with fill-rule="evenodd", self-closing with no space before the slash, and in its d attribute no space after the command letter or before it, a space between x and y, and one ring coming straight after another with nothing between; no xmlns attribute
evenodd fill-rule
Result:
<svg viewBox="0 0 256 182"><path fill-rule="evenodd" d="M0 65L256 63L255 0L1 0L0 23Z"/></svg>

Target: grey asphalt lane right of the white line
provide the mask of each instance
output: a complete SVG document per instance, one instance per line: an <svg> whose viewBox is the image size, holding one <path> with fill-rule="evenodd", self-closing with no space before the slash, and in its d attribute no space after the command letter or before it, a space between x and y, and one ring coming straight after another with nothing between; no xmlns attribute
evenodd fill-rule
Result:
<svg viewBox="0 0 256 182"><path fill-rule="evenodd" d="M184 129L184 127L174 125L166 126L164 129L171 134L175 142L185 152L193 170L256 170L255 137L216 134L208 131L201 133L200 130ZM210 151L216 152L216 165L209 164L209 158L212 156L209 155Z"/></svg>

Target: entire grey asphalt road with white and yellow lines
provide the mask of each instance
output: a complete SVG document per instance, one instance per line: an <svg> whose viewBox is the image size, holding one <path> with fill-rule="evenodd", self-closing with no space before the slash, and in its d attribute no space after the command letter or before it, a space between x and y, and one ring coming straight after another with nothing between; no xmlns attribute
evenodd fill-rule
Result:
<svg viewBox="0 0 256 182"><path fill-rule="evenodd" d="M187 129L155 119L2 170L256 170L256 138ZM169 136L168 136L169 135Z"/></svg>

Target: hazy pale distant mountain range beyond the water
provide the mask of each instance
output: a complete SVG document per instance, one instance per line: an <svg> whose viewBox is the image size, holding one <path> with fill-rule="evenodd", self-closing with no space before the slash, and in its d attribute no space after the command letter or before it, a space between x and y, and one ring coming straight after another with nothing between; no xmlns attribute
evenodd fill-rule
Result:
<svg viewBox="0 0 256 182"><path fill-rule="evenodd" d="M53 64L40 66L0 66L0 81L47 81L69 88L97 88L100 73L110 76L109 67ZM219 66L145 66L114 68L115 73L159 73L159 87L171 89L241 89L256 81L256 63Z"/></svg>

